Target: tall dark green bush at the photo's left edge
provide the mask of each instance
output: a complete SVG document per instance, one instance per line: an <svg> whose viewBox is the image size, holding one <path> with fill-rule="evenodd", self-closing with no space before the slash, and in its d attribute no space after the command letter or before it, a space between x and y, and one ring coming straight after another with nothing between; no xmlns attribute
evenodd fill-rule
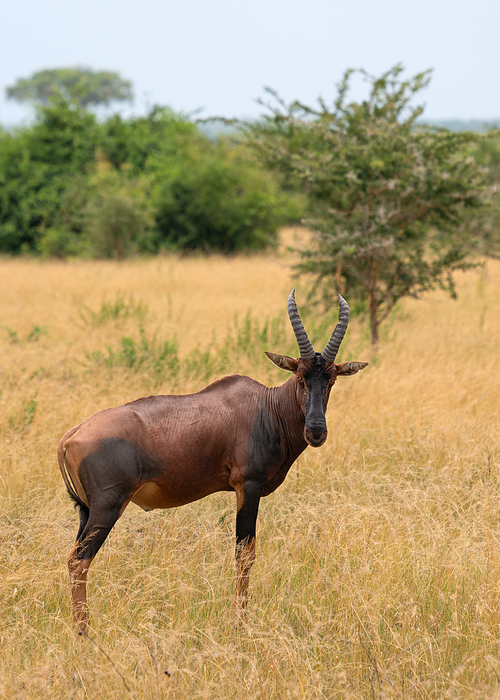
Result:
<svg viewBox="0 0 500 700"><path fill-rule="evenodd" d="M57 237L70 246L98 139L95 117L60 99L32 127L0 133L0 252L50 251Z"/></svg>

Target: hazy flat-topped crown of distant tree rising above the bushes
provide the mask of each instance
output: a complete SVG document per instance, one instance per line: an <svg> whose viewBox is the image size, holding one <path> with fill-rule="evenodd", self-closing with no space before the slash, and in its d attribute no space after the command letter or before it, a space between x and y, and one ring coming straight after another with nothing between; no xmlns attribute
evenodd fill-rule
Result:
<svg viewBox="0 0 500 700"><path fill-rule="evenodd" d="M90 68L54 68L20 78L6 90L7 97L17 102L47 105L58 96L76 100L81 107L109 105L132 99L132 83L112 71Z"/></svg>

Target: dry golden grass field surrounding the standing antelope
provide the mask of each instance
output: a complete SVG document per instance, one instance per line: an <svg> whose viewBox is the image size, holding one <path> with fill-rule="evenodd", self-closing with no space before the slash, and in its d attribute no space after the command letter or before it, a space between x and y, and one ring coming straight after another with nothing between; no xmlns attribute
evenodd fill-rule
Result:
<svg viewBox="0 0 500 700"><path fill-rule="evenodd" d="M500 697L500 263L458 300L401 303L375 352L360 318L329 437L261 502L246 624L232 619L233 494L131 504L89 574L56 448L97 410L225 374L277 385L296 356L285 254L0 260L0 697ZM296 294L302 309L306 290ZM348 299L349 301L349 299ZM302 303L301 303L302 302ZM303 320L321 350L336 321ZM168 673L166 673L168 672Z"/></svg>

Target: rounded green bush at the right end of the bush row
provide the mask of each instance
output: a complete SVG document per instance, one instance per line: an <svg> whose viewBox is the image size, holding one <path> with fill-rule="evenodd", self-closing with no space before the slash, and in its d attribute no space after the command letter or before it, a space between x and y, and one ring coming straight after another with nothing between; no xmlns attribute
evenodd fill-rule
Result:
<svg viewBox="0 0 500 700"><path fill-rule="evenodd" d="M299 218L294 200L248 155L208 141L155 173L157 246L231 253L275 242Z"/></svg>

